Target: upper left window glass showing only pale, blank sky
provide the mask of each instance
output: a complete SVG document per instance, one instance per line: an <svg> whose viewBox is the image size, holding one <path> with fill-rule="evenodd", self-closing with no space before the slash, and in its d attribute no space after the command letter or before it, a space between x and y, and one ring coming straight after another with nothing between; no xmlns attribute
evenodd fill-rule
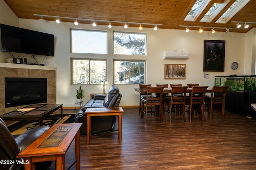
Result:
<svg viewBox="0 0 256 170"><path fill-rule="evenodd" d="M107 54L107 31L71 29L71 53Z"/></svg>

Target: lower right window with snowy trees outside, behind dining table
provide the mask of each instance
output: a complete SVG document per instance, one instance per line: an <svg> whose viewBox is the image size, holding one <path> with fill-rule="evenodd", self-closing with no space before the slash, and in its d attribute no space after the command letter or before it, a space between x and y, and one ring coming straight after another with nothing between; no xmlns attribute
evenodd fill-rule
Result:
<svg viewBox="0 0 256 170"><path fill-rule="evenodd" d="M114 84L144 84L146 61L114 61Z"/></svg>

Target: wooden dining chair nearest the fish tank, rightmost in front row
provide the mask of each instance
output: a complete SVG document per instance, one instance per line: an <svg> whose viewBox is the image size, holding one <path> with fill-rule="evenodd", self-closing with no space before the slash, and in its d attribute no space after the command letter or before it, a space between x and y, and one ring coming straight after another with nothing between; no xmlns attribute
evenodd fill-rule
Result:
<svg viewBox="0 0 256 170"><path fill-rule="evenodd" d="M213 105L221 104L222 105L222 119L226 121L225 118L225 98L226 92L229 86L213 86L212 94L210 97L205 97L204 103L207 106L208 114L210 114L210 121L213 117Z"/></svg>

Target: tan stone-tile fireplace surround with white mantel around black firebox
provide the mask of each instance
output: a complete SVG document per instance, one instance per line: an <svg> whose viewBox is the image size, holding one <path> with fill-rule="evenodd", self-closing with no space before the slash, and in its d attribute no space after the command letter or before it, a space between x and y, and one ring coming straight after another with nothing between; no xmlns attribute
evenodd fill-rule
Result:
<svg viewBox="0 0 256 170"><path fill-rule="evenodd" d="M25 106L5 107L5 77L47 78L47 104L56 103L56 67L0 63L0 115Z"/></svg>

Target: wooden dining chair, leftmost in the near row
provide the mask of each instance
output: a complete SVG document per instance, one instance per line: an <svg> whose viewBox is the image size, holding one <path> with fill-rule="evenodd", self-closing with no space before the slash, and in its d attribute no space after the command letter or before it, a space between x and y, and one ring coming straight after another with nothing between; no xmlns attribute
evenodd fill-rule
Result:
<svg viewBox="0 0 256 170"><path fill-rule="evenodd" d="M160 122L162 122L162 95L163 95L164 86L160 87L150 87L147 88L146 98L140 98L141 100L141 118L143 119L144 114L146 117L145 124L147 124L147 118L160 118ZM155 96L152 96L155 94ZM144 105L146 105L146 109L144 110ZM154 117L148 116L148 106L154 106ZM159 109L156 109L156 106ZM158 115L157 115L158 112Z"/></svg>

